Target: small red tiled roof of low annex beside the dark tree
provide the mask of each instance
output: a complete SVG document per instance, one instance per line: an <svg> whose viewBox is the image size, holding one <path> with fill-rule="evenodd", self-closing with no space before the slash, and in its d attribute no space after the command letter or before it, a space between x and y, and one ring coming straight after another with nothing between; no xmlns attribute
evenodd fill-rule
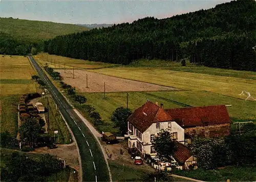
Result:
<svg viewBox="0 0 256 182"><path fill-rule="evenodd" d="M189 157L192 156L192 153L190 150L183 145L180 142L175 141L177 148L176 151L174 152L174 158L178 163L185 163L186 160L188 160Z"/></svg>

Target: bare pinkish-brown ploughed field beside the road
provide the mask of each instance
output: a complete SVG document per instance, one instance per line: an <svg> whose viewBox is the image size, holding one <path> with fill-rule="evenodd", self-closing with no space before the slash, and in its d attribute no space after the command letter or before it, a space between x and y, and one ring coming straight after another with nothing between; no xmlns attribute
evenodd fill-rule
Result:
<svg viewBox="0 0 256 182"><path fill-rule="evenodd" d="M60 72L64 82L75 86L78 92L100 93L104 92L133 92L133 91L160 91L160 90L178 90L176 88L160 86L151 83L127 80L85 70L75 70L73 79L73 70L56 70ZM86 85L86 74L88 74L88 88Z"/></svg>

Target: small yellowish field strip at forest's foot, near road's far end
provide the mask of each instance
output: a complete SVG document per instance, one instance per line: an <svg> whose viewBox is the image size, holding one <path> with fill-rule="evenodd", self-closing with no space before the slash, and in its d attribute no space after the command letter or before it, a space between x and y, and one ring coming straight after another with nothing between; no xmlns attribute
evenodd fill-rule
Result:
<svg viewBox="0 0 256 182"><path fill-rule="evenodd" d="M49 55L47 53L40 53L33 57L41 65L48 63L48 65L54 69L63 69L64 67L66 67L66 69L73 69L73 67L74 69L99 69L103 67L116 66L116 64L73 59L68 57Z"/></svg>

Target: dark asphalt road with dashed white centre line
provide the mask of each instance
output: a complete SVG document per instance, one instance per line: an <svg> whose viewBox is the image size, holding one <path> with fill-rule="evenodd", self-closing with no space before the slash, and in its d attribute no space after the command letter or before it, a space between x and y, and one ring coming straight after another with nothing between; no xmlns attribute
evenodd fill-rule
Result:
<svg viewBox="0 0 256 182"><path fill-rule="evenodd" d="M108 166L94 135L77 116L72 106L61 95L33 57L29 56L29 59L40 78L46 82L54 102L74 133L81 156L82 181L110 181Z"/></svg>

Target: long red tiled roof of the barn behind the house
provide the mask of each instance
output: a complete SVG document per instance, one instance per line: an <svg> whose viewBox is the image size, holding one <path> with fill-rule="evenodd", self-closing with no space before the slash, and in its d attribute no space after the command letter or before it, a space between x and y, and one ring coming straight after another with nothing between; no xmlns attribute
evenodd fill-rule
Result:
<svg viewBox="0 0 256 182"><path fill-rule="evenodd" d="M204 125L203 122L207 122L208 125L231 122L225 105L172 108L165 111L180 126L184 124L185 127L201 126Z"/></svg>

